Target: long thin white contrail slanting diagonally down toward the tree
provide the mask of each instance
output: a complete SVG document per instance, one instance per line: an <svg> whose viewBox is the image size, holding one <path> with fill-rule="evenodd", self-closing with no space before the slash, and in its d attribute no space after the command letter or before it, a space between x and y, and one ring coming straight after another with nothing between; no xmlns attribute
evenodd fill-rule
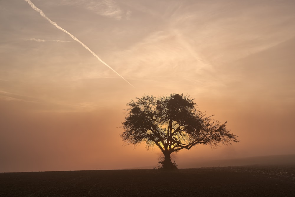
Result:
<svg viewBox="0 0 295 197"><path fill-rule="evenodd" d="M69 36L71 36L71 38L73 38L74 40L76 40L78 43L80 43L84 48L86 48L90 53L92 53L92 55L94 55L99 61L101 61L101 63L103 63L104 65L106 65L107 67L109 67L109 69L111 69L112 71L114 71L117 75L119 75L122 79L124 79L124 77L122 77L119 73L117 73L114 69L112 69L111 66L109 66L108 64L106 64L104 61L102 61L101 58L99 58L99 56L97 56L93 51L90 50L90 48L88 48L88 46L86 46L84 43L82 43L80 40L78 40L78 38L76 38L75 36L73 36L70 32L64 30L62 27L58 26L56 24L56 22L53 22L52 20L50 20L43 12L42 10L40 10L39 8L37 8L32 1L30 0L24 0L27 1L27 3L37 12L40 13L40 15L42 17L44 17L46 20L48 20L52 25L54 25L56 28L62 30L63 32L67 33ZM126 79L124 79L127 83L129 83ZM132 87L134 87L131 83L129 83Z"/></svg>

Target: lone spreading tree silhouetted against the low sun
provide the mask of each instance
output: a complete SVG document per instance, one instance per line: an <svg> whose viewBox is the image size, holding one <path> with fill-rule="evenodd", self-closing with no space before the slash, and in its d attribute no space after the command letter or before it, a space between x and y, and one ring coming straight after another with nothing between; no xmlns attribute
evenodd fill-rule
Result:
<svg viewBox="0 0 295 197"><path fill-rule="evenodd" d="M127 115L122 123L122 140L126 144L138 145L145 142L146 148L155 145L164 154L164 169L174 169L171 153L181 149L191 149L197 144L217 147L219 144L238 142L237 136L230 133L226 123L206 117L199 111L190 96L171 94L153 97L145 95L127 103Z"/></svg>

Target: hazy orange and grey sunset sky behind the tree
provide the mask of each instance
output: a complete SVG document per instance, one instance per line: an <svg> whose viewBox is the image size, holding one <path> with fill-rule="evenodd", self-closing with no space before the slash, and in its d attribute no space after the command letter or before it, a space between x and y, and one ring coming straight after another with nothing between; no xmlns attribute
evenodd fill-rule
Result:
<svg viewBox="0 0 295 197"><path fill-rule="evenodd" d="M0 172L157 166L120 126L131 99L173 93L240 140L182 150L178 167L295 154L295 1L32 3L109 67L25 0L0 0Z"/></svg>

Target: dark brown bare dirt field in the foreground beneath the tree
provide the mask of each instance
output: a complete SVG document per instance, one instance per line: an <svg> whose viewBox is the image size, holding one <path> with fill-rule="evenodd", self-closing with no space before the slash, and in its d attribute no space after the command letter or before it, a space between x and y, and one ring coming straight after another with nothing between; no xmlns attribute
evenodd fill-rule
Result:
<svg viewBox="0 0 295 197"><path fill-rule="evenodd" d="M0 173L0 196L295 196L295 166Z"/></svg>

